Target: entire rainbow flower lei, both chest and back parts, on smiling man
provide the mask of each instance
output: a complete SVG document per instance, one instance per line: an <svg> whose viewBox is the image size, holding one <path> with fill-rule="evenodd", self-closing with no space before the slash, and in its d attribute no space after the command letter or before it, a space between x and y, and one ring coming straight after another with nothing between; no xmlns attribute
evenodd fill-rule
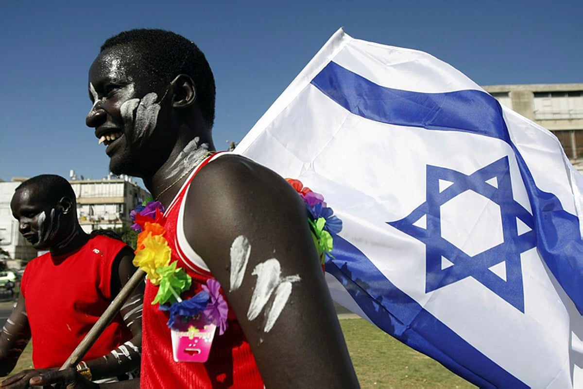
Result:
<svg viewBox="0 0 583 389"><path fill-rule="evenodd" d="M333 236L342 230L342 221L326 206L324 196L297 179L286 178L286 181L304 200L312 239L324 265L326 256L333 258ZM159 285L152 305L159 303L160 310L169 312L167 325L174 330L184 330L187 321L203 315L219 328L219 335L224 334L229 307L220 293L219 281L210 278L202 285L203 290L192 298L180 298L182 292L190 289L192 278L182 268L177 268L177 261L170 262L172 249L164 238L164 206L160 201L149 200L131 211L130 217L134 221L131 228L139 231L134 265L146 272L153 285Z"/></svg>

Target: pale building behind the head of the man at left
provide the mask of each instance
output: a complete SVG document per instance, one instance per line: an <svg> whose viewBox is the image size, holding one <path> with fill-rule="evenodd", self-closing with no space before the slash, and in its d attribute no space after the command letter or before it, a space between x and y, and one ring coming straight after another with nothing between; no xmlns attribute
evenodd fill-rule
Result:
<svg viewBox="0 0 583 389"><path fill-rule="evenodd" d="M37 251L18 231L12 217L10 200L14 190L26 178L0 182L0 248L7 252L10 268L20 268L37 256ZM129 213L150 194L128 176L101 180L73 179L69 181L77 197L79 224L85 232L94 229L117 228L132 224Z"/></svg>

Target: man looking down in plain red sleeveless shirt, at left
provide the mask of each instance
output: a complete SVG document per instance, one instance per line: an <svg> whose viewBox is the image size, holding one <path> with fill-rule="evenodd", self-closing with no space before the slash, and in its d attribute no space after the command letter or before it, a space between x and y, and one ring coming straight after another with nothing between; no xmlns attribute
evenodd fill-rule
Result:
<svg viewBox="0 0 583 389"><path fill-rule="evenodd" d="M10 207L24 238L48 253L27 264L19 300L2 328L2 376L16 365L31 337L36 369L61 366L135 271L130 247L82 230L75 192L64 178L40 175L23 182ZM78 366L86 377L117 381L116 376L127 379L125 373L139 367L142 301L143 285ZM0 387L28 387L37 375L38 370L24 370Z"/></svg>

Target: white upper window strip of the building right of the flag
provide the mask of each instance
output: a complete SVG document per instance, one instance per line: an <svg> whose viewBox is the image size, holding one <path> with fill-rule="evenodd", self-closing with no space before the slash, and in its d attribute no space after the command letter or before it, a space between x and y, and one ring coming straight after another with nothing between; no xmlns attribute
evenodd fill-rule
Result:
<svg viewBox="0 0 583 389"><path fill-rule="evenodd" d="M583 91L535 92L535 119L582 119Z"/></svg>

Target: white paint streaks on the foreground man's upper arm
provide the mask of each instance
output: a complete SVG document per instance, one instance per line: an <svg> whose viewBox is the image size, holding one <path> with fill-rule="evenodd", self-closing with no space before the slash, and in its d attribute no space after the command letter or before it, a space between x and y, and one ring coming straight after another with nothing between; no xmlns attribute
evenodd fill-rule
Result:
<svg viewBox="0 0 583 389"><path fill-rule="evenodd" d="M245 269L251 253L251 243L245 236L240 235L231 245L231 274L230 291L236 291L243 284ZM299 275L289 275L281 277L281 266L279 260L271 258L255 266L252 275L257 275L255 289L251 296L251 302L247 311L247 319L255 320L259 313L264 310L265 305L272 298L271 306L265 312L264 332L268 333L273 328L280 313L287 304L291 295L292 283L301 281Z"/></svg>

